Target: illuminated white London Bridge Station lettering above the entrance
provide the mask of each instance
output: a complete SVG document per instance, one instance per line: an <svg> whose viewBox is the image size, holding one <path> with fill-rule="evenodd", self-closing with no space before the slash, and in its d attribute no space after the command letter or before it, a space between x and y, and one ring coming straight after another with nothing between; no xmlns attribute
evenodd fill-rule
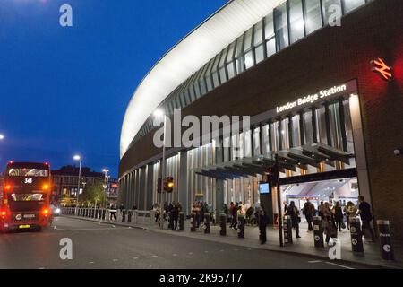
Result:
<svg viewBox="0 0 403 287"><path fill-rule="evenodd" d="M307 95L305 97L298 98L298 100L288 102L284 106L277 107L276 111L279 114L281 112L287 111L288 109L294 109L297 107L304 106L306 104L313 104L315 101L324 100L325 98L338 95L339 93L347 92L348 90L350 90L348 87L348 83L341 84L339 86L334 86L329 89L318 91L317 93L314 93L312 95Z"/></svg>

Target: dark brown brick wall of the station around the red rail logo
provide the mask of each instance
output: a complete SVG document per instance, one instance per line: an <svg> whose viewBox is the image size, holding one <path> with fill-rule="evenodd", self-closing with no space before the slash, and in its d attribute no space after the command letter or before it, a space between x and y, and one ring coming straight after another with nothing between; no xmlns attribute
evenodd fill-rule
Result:
<svg viewBox="0 0 403 287"><path fill-rule="evenodd" d="M195 101L183 115L256 115L296 97L357 79L373 209L390 219L403 239L403 1L375 0L318 30ZM370 61L385 58L395 81L384 82ZM120 175L159 151L152 133L136 143L120 163Z"/></svg>

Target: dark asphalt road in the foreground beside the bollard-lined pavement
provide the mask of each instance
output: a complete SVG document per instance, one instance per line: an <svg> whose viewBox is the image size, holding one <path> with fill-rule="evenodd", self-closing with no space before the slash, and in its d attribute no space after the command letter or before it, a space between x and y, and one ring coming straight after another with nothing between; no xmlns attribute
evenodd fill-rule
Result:
<svg viewBox="0 0 403 287"><path fill-rule="evenodd" d="M59 255L65 238L73 242L72 260ZM0 234L0 243L1 269L362 268L65 217L41 232Z"/></svg>

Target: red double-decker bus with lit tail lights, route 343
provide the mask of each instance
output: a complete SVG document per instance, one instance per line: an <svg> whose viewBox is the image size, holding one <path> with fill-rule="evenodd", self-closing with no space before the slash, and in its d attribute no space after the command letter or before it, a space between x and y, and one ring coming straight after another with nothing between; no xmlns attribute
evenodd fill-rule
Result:
<svg viewBox="0 0 403 287"><path fill-rule="evenodd" d="M52 222L47 163L10 161L0 194L0 230L41 230Z"/></svg>

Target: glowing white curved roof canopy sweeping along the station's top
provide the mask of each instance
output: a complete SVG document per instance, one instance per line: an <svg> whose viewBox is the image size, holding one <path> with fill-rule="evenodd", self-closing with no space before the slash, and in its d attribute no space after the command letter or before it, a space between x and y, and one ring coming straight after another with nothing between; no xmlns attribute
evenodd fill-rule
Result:
<svg viewBox="0 0 403 287"><path fill-rule="evenodd" d="M126 109L120 157L159 104L212 57L286 0L232 0L169 50L145 76Z"/></svg>

